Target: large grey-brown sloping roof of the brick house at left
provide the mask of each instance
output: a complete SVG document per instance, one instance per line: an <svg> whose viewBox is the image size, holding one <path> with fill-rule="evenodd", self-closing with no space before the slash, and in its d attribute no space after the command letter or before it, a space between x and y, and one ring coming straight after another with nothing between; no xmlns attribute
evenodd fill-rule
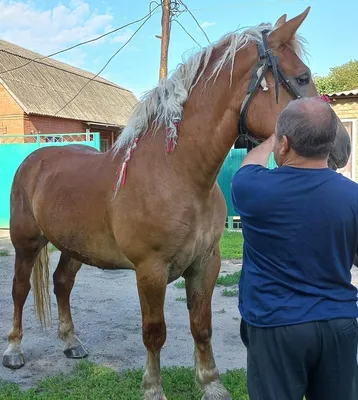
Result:
<svg viewBox="0 0 358 400"><path fill-rule="evenodd" d="M106 79L0 40L0 83L27 114L57 116L115 126L127 124L138 102ZM31 61L37 58L36 61ZM27 65L24 65L27 64ZM24 65L22 68L4 72ZM93 81L89 79L94 78ZM86 84L87 86L78 94ZM75 95L62 111L58 111Z"/></svg>

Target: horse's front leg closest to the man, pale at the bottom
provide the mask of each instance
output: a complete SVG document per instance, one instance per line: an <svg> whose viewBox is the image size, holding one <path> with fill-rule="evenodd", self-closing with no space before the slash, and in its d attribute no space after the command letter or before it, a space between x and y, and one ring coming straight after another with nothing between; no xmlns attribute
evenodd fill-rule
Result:
<svg viewBox="0 0 358 400"><path fill-rule="evenodd" d="M219 381L211 347L211 299L220 265L220 251L216 249L205 263L193 265L185 274L190 328L195 341L196 380L204 390L203 400L231 399Z"/></svg>

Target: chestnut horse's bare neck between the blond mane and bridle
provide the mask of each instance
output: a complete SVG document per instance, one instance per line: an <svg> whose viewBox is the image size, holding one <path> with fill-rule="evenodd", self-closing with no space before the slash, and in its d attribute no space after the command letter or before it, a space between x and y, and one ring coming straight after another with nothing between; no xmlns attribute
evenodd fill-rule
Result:
<svg viewBox="0 0 358 400"><path fill-rule="evenodd" d="M239 105L234 88L193 99L184 111L173 162L201 190L211 190L238 135ZM196 103L192 112L191 104ZM179 166L179 165L178 165Z"/></svg>

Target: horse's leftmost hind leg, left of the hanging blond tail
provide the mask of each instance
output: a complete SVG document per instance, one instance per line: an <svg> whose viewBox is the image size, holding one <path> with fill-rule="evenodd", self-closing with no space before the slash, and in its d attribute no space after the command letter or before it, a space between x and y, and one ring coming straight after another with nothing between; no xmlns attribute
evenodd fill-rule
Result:
<svg viewBox="0 0 358 400"><path fill-rule="evenodd" d="M29 226L26 227L28 230ZM21 230L25 228L21 227ZM36 231L36 230L35 230ZM33 235L29 235L36 237ZM22 311L30 291L30 277L35 261L41 249L47 244L44 237L38 236L34 239L19 238L13 239L15 247L15 275L12 286L12 298L14 302L13 327L8 337L8 348L3 356L5 367L17 369L25 364L21 348L22 340Z"/></svg>

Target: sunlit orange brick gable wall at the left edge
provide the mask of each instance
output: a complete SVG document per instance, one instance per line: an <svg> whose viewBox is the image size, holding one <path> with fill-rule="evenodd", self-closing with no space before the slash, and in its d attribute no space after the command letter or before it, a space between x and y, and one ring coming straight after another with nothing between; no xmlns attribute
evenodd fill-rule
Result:
<svg viewBox="0 0 358 400"><path fill-rule="evenodd" d="M0 135L22 135L24 112L7 90L0 85Z"/></svg>

